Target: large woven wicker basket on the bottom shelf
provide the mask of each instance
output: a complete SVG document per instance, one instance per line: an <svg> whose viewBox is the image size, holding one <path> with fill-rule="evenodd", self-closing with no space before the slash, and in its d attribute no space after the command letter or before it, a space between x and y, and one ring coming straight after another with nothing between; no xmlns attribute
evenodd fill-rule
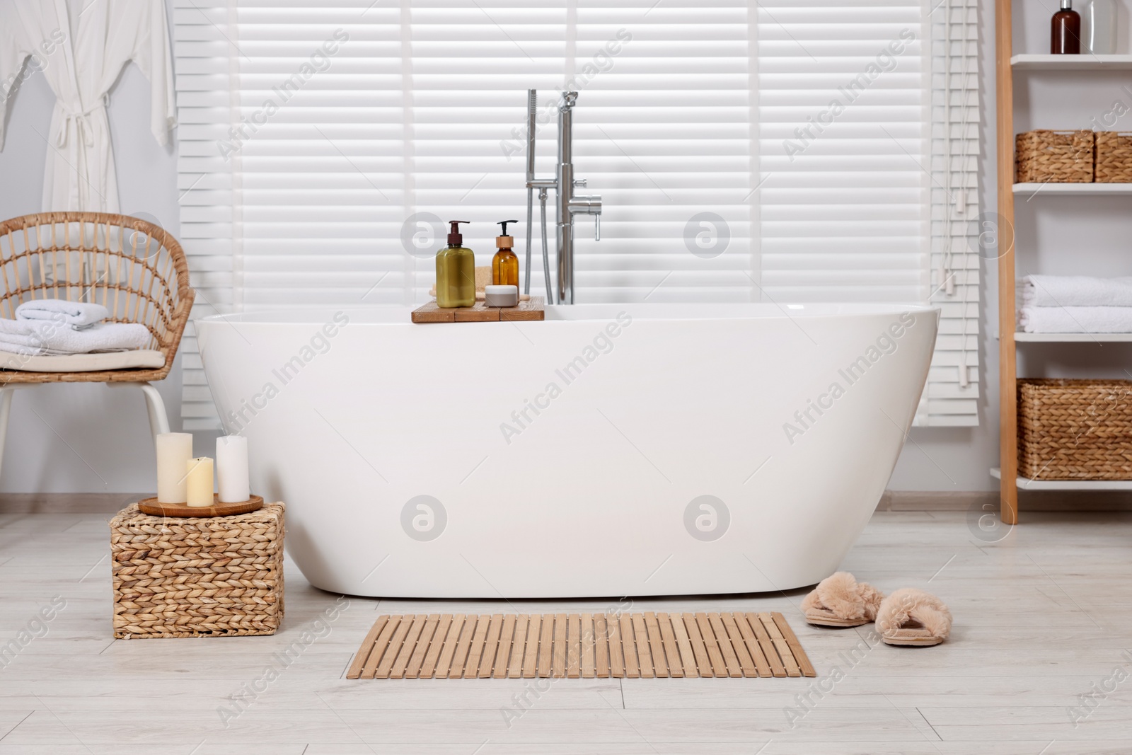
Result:
<svg viewBox="0 0 1132 755"><path fill-rule="evenodd" d="M1020 379L1018 473L1132 480L1132 380Z"/></svg>

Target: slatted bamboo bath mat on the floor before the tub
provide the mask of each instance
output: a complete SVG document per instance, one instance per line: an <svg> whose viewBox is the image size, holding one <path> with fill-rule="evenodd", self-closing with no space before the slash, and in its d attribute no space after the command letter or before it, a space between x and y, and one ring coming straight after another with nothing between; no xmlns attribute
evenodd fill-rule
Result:
<svg viewBox="0 0 1132 755"><path fill-rule="evenodd" d="M380 616L348 679L817 676L781 614Z"/></svg>

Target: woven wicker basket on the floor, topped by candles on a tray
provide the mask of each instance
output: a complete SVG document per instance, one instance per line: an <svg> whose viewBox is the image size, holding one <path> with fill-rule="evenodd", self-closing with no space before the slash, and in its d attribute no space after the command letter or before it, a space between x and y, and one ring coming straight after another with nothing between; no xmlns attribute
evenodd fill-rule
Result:
<svg viewBox="0 0 1132 755"><path fill-rule="evenodd" d="M201 518L130 504L110 549L120 640L275 634L283 618L283 504Z"/></svg>

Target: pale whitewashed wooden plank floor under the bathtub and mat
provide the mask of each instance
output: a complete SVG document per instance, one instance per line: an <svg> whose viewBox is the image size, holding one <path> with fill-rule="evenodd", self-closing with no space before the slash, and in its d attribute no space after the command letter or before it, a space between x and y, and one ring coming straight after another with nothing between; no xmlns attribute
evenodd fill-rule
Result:
<svg viewBox="0 0 1132 755"><path fill-rule="evenodd" d="M1127 513L1031 513L994 543L962 513L876 514L843 567L955 617L950 642L910 649L806 625L803 591L378 601L292 564L276 636L114 641L109 518L0 516L0 755L1132 753ZM781 611L817 677L345 679L379 612L625 610Z"/></svg>

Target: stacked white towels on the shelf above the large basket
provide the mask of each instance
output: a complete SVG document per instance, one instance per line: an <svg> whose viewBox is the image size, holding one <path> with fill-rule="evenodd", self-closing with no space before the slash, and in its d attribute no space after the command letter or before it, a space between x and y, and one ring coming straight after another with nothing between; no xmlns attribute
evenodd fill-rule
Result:
<svg viewBox="0 0 1132 755"><path fill-rule="evenodd" d="M1132 333L1132 277L1027 275L1023 333Z"/></svg>

